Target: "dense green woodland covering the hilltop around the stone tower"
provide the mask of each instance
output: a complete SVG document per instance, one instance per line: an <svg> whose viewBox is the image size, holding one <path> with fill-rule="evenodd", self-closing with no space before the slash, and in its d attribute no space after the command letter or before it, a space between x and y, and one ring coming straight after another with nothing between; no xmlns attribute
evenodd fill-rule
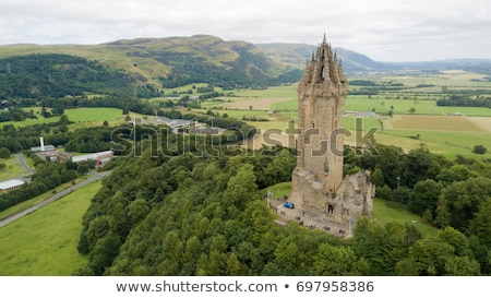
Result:
<svg viewBox="0 0 491 298"><path fill-rule="evenodd" d="M453 202L447 205L450 213L463 213L452 216L469 216L467 229L454 228L448 223L438 237L422 238L410 223L380 224L361 217L355 226L354 238L343 241L325 231L306 230L296 222L286 227L274 223L276 215L259 190L290 180L296 158L289 150L263 148L239 154L223 151L214 157L193 151L156 156L152 142L146 144L139 158L120 159L84 215L79 251L88 255L88 262L74 275L481 275L491 272L491 180L488 178L479 178L479 187L469 189L481 192L471 204L477 208L475 213L456 210L459 203L445 198ZM454 165L423 150L405 154L393 147L376 147L381 153L390 153L388 158L376 157L374 152L349 155L352 151L347 147L346 171L360 167L380 169L383 171L379 178L386 178L383 183L391 186L396 180L394 175L399 175L400 191L408 187L416 189L419 180L405 182L410 181L409 177L441 174ZM414 162L419 154L427 158L405 171L403 165ZM429 162L426 167L424 160ZM478 163L465 167L470 172L489 174L490 165ZM380 171L372 171L374 180ZM448 181L453 190L459 183ZM463 194L460 191L457 195Z"/></svg>

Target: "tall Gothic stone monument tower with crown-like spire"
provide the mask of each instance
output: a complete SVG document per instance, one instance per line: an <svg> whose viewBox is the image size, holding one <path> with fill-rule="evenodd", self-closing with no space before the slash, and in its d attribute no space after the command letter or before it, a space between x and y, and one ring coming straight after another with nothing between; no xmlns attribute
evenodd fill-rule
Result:
<svg viewBox="0 0 491 298"><path fill-rule="evenodd" d="M343 106L348 94L343 64L325 35L298 84L297 167L291 200L303 210L350 222L371 215L374 187L366 172L343 177Z"/></svg>

